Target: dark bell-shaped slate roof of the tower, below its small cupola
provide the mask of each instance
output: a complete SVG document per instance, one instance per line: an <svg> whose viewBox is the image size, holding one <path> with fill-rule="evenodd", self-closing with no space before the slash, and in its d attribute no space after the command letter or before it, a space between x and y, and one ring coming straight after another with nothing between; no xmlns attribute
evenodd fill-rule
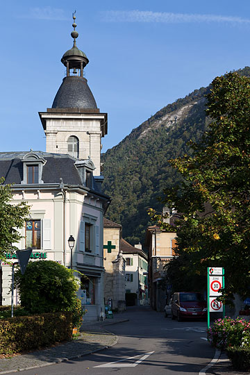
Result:
<svg viewBox="0 0 250 375"><path fill-rule="evenodd" d="M87 80L80 76L63 78L52 108L97 108Z"/></svg>

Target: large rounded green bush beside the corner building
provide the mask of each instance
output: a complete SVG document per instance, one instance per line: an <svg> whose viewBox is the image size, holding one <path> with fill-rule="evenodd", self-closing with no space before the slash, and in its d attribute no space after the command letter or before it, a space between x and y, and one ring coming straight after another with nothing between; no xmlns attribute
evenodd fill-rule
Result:
<svg viewBox="0 0 250 375"><path fill-rule="evenodd" d="M15 272L15 287L28 313L72 311L74 325L81 325L83 310L76 297L79 285L72 269L52 260L30 262L24 275L19 269Z"/></svg>

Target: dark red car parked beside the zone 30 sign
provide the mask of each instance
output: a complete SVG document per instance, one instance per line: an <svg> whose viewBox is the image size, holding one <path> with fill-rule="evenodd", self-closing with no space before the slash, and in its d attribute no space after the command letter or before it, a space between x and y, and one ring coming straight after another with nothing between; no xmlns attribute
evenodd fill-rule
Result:
<svg viewBox="0 0 250 375"><path fill-rule="evenodd" d="M202 293L178 292L172 297L172 319L181 321L183 318L203 318L207 317L207 303Z"/></svg>

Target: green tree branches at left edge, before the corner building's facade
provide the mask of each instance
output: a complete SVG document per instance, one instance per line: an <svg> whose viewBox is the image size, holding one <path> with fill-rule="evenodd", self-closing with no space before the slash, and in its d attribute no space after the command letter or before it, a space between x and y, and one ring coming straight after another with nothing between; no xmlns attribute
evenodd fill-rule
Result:
<svg viewBox="0 0 250 375"><path fill-rule="evenodd" d="M4 178L0 178L0 259L6 257L6 252L17 250L15 243L22 238L19 229L28 217L27 203L13 204L12 197L11 185L4 185Z"/></svg>

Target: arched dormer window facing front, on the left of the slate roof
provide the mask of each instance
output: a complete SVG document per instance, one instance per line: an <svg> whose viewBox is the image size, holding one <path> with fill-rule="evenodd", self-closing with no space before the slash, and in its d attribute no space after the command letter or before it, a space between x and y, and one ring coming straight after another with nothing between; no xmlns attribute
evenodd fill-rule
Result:
<svg viewBox="0 0 250 375"><path fill-rule="evenodd" d="M46 160L35 152L29 152L24 155L22 160L24 178L22 184L40 184L42 181L42 167Z"/></svg>

